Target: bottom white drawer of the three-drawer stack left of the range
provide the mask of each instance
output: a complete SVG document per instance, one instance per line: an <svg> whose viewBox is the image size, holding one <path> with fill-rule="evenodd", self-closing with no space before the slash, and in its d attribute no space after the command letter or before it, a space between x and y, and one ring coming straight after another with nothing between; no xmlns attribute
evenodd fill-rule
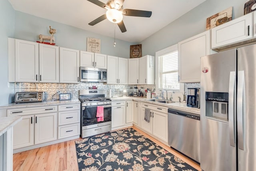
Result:
<svg viewBox="0 0 256 171"><path fill-rule="evenodd" d="M59 126L58 139L80 135L80 123Z"/></svg>

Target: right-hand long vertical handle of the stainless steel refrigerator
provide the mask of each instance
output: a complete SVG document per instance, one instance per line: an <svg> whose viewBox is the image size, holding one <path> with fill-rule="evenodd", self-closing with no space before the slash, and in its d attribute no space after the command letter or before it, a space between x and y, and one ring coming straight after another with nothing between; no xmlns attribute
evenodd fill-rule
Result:
<svg viewBox="0 0 256 171"><path fill-rule="evenodd" d="M238 71L237 79L237 136L238 148L244 150L244 130L243 130L243 99L244 95L244 71Z"/></svg>

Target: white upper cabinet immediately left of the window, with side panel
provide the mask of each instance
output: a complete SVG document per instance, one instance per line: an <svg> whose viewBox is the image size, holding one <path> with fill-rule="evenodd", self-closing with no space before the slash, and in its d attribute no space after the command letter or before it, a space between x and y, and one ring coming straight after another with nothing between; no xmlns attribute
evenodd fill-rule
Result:
<svg viewBox="0 0 256 171"><path fill-rule="evenodd" d="M139 84L154 84L154 56L139 58Z"/></svg>

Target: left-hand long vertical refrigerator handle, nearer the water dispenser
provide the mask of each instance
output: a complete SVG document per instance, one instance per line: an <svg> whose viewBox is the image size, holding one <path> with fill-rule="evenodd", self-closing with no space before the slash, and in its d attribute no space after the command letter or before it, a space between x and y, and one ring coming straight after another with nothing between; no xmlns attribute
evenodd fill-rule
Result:
<svg viewBox="0 0 256 171"><path fill-rule="evenodd" d="M229 90L228 90L228 127L230 145L235 147L235 129L234 129L234 91L235 91L236 72L230 72Z"/></svg>

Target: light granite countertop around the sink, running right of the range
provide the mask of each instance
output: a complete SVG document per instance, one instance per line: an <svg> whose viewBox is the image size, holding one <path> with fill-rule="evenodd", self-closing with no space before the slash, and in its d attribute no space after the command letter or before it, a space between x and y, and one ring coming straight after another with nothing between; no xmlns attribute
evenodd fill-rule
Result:
<svg viewBox="0 0 256 171"><path fill-rule="evenodd" d="M111 100L112 101L120 101L120 100L141 101L141 102L144 102L144 103L150 103L150 104L154 104L154 105L165 106L165 107L168 107L168 108L171 108L171 109L176 109L176 110L180 110L180 111L186 111L186 112L190 112L190 113L194 113L194 114L200 115L200 109L195 108L195 107L188 107L187 103L184 103L184 102L159 103L159 102L155 102L155 101L148 101L149 99L147 99L145 97L131 97L131 96L127 96L127 97L112 97Z"/></svg>

